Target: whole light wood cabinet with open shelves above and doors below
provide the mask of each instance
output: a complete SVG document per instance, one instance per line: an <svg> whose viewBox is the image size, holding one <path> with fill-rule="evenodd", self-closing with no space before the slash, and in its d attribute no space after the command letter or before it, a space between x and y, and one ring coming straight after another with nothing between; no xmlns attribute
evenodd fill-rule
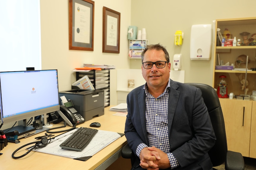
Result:
<svg viewBox="0 0 256 170"><path fill-rule="evenodd" d="M227 82L227 93L233 92L234 95L245 95L242 90L241 80L248 81L248 91L246 95L252 95L252 91L256 90L256 71L250 70L256 68L256 46L221 46L217 36L217 28L223 34L225 28L230 30L231 38L241 39L242 32L248 32L248 39L256 33L256 17L251 18L235 18L216 20L215 27L215 47L214 47L214 67L213 67L213 84L212 87L218 88L220 75L225 75ZM218 46L220 45L220 46ZM236 68L246 69L246 63L237 63L237 58L240 55L248 56L247 71L245 70L217 70L215 66L219 65L218 57L223 60L223 63L233 63ZM225 120L227 147L228 150L242 153L243 156L256 158L256 101L237 100L236 98L219 98L222 106L222 112Z"/></svg>

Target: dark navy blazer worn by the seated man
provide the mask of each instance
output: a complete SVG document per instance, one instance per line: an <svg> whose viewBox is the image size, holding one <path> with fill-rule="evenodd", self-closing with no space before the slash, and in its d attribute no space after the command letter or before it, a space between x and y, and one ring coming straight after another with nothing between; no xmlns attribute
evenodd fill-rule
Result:
<svg viewBox="0 0 256 170"><path fill-rule="evenodd" d="M128 114L124 133L134 153L140 143L149 145L143 86L127 95ZM207 152L214 146L216 137L199 88L170 80L168 133L170 152L180 164L176 169L212 169ZM139 163L140 159L136 156L134 167Z"/></svg>

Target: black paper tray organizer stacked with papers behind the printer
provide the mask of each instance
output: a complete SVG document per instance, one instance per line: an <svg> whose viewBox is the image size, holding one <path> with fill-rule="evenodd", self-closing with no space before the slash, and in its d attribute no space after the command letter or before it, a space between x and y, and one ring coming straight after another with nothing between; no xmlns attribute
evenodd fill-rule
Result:
<svg viewBox="0 0 256 170"><path fill-rule="evenodd" d="M76 72L76 80L87 75L95 89L104 90L104 106L110 105L110 69Z"/></svg>

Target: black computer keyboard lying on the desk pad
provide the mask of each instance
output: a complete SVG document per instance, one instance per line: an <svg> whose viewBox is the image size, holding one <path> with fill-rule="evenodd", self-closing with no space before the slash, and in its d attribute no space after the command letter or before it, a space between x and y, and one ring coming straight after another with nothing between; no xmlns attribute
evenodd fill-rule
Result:
<svg viewBox="0 0 256 170"><path fill-rule="evenodd" d="M60 144L61 148L82 151L98 132L97 129L80 127L67 140Z"/></svg>

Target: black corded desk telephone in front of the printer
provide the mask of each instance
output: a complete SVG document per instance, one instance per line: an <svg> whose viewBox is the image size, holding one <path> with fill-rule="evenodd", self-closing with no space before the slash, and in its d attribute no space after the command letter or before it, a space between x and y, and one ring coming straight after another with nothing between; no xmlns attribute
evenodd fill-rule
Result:
<svg viewBox="0 0 256 170"><path fill-rule="evenodd" d="M74 105L71 100L68 100L67 103L64 103L64 106L60 106L59 115L71 127L85 122L83 116L80 113L78 113L78 111L74 108Z"/></svg>

